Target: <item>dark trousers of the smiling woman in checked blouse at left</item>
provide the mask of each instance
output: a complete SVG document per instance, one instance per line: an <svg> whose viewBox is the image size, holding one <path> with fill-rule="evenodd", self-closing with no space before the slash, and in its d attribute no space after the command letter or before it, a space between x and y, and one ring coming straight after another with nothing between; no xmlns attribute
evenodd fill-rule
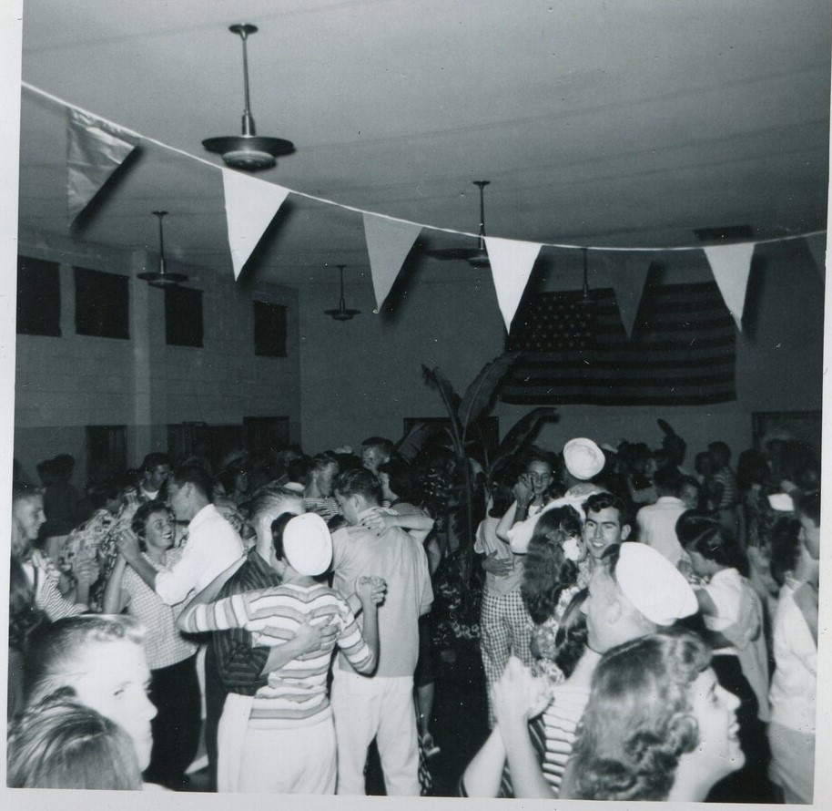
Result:
<svg viewBox="0 0 832 811"><path fill-rule="evenodd" d="M150 672L150 697L157 708L151 721L153 751L148 783L181 788L185 770L197 755L201 729L197 656Z"/></svg>

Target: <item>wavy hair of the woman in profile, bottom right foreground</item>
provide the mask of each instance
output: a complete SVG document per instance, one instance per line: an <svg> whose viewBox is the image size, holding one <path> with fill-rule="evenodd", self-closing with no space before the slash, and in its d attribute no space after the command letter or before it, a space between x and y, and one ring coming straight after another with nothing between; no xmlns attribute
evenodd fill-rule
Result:
<svg viewBox="0 0 832 811"><path fill-rule="evenodd" d="M675 629L604 654L573 749L573 797L666 799L699 742L688 691L710 661L705 642Z"/></svg>

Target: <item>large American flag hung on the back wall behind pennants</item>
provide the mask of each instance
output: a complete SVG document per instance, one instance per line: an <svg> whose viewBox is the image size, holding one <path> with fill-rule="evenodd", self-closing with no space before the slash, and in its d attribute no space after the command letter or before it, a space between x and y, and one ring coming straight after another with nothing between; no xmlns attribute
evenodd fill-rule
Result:
<svg viewBox="0 0 832 811"><path fill-rule="evenodd" d="M647 285L632 339L613 290L539 293L512 322L517 405L705 405L736 399L736 325L715 282Z"/></svg>

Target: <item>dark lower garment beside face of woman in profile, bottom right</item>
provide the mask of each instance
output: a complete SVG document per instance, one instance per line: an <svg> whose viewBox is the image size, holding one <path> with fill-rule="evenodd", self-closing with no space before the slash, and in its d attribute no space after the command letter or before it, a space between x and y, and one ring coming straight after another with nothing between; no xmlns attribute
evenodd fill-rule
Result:
<svg viewBox="0 0 832 811"><path fill-rule="evenodd" d="M766 724L757 718L759 703L748 683L739 659L717 655L711 660L716 678L728 693L740 700L736 711L739 742L746 755L746 765L720 780L708 793L709 803L775 803L774 786L768 780L771 750Z"/></svg>

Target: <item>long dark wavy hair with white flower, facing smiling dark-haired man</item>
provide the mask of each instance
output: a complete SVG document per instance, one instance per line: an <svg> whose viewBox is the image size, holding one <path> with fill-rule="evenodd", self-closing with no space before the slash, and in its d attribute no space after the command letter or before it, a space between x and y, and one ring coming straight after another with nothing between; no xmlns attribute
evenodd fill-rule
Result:
<svg viewBox="0 0 832 811"><path fill-rule="evenodd" d="M578 566L563 554L563 541L581 536L581 517L572 507L544 512L534 527L523 566L523 603L538 625L554 613L563 589L578 577Z"/></svg>

